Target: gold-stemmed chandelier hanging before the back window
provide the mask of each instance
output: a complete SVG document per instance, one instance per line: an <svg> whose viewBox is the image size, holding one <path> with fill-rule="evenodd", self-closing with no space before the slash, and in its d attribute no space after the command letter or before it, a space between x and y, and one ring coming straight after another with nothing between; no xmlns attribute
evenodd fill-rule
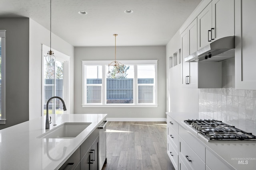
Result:
<svg viewBox="0 0 256 170"><path fill-rule="evenodd" d="M110 64L108 64L108 74L107 78L113 78L112 75L114 75L114 78L124 78L126 74L124 73L124 64L120 63L119 61L116 61L116 36L117 34L113 34L115 36L115 61L112 61ZM114 68L109 70L109 67L113 66ZM120 70L122 71L120 72Z"/></svg>

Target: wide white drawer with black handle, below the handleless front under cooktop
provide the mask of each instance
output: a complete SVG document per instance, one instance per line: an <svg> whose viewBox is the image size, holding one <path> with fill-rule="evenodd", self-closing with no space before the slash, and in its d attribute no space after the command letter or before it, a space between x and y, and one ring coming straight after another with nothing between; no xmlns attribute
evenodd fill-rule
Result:
<svg viewBox="0 0 256 170"><path fill-rule="evenodd" d="M203 170L205 169L204 161L183 141L180 140L180 152L179 156L182 158L184 164L189 169Z"/></svg>

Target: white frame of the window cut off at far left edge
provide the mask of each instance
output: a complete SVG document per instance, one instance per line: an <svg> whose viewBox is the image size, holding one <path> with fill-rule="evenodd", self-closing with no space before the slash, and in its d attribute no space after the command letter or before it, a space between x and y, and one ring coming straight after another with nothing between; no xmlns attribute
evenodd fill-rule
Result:
<svg viewBox="0 0 256 170"><path fill-rule="evenodd" d="M0 30L1 37L1 116L0 125L6 124L6 94L5 94L5 80L6 80L6 30Z"/></svg>

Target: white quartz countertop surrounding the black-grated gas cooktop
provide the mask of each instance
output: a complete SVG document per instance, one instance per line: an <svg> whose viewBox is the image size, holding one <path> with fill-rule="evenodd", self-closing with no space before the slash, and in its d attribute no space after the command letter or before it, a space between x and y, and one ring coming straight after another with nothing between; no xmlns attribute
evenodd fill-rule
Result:
<svg viewBox="0 0 256 170"><path fill-rule="evenodd" d="M230 169L255 170L256 169L256 141L254 142L208 142L203 137L190 128L184 120L199 119L198 113L170 113L167 115L184 127L188 133L193 135L198 142L202 143L206 149L217 156ZM244 160L238 164L239 160ZM246 161L248 163L246 164ZM207 162L206 162L207 164Z"/></svg>

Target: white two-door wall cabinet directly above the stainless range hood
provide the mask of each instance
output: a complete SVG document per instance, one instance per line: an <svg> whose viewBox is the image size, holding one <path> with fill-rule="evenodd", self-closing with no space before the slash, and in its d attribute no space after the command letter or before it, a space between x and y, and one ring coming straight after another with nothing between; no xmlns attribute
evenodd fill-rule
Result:
<svg viewBox="0 0 256 170"><path fill-rule="evenodd" d="M198 49L234 35L234 0L212 0L198 15Z"/></svg>

